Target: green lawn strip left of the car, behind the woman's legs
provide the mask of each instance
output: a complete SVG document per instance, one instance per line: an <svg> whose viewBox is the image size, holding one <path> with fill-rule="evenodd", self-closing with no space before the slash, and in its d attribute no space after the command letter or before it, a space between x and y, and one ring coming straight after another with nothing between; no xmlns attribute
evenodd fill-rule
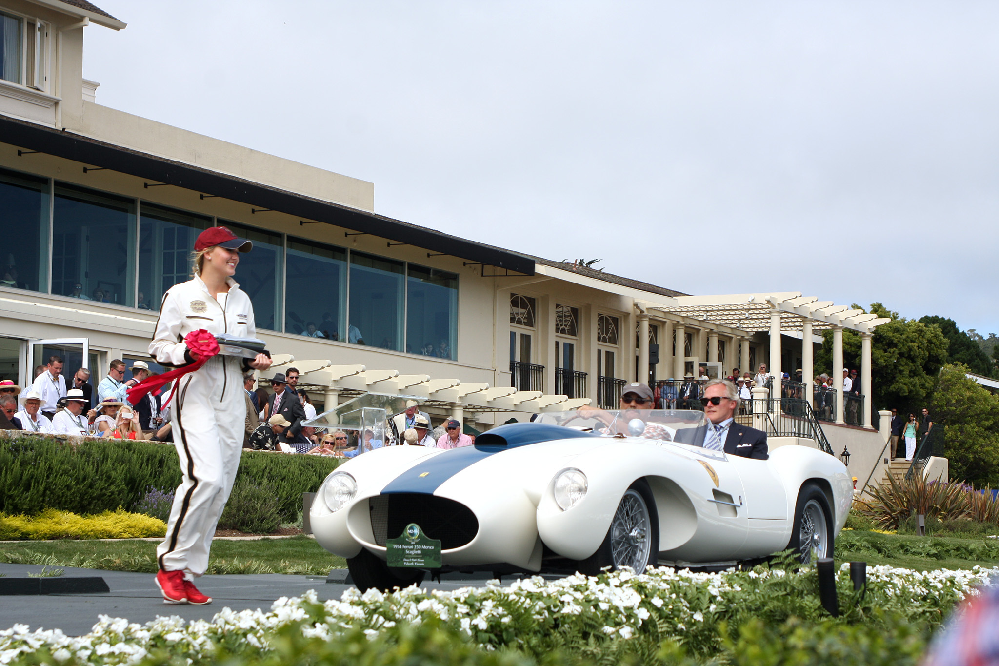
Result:
<svg viewBox="0 0 999 666"><path fill-rule="evenodd" d="M111 571L155 573L156 542L137 539L120 541L24 541L0 543L0 562L80 566ZM212 542L207 573L296 573L326 575L347 562L330 554L315 539L255 539Z"/></svg>

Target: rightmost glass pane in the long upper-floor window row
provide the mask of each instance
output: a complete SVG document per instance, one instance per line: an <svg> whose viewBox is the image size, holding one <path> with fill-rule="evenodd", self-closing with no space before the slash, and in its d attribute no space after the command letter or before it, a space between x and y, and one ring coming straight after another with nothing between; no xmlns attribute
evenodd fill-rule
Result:
<svg viewBox="0 0 999 666"><path fill-rule="evenodd" d="M454 359L458 332L458 276L413 264L409 271L406 350Z"/></svg>

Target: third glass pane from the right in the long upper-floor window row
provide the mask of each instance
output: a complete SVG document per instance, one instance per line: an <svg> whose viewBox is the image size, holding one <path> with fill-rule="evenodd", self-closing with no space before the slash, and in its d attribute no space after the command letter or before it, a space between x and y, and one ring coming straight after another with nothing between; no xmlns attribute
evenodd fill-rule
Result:
<svg viewBox="0 0 999 666"><path fill-rule="evenodd" d="M346 341L347 251L288 239L285 333Z"/></svg>

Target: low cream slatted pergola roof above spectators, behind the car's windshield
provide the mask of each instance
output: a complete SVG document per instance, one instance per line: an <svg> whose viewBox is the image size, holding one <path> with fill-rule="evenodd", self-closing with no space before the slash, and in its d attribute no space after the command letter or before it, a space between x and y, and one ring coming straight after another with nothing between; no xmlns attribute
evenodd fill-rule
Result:
<svg viewBox="0 0 999 666"><path fill-rule="evenodd" d="M429 374L400 374L398 370L368 369L364 365L334 365L327 359L297 360L290 354L275 354L271 368L259 372L269 382L277 372L295 363L299 386L316 391L335 390L341 398L366 392L398 393L423 399L422 404L488 413L566 411L589 404L588 397L548 395L539 390L492 387L486 382L462 383L459 379L432 379Z"/></svg>

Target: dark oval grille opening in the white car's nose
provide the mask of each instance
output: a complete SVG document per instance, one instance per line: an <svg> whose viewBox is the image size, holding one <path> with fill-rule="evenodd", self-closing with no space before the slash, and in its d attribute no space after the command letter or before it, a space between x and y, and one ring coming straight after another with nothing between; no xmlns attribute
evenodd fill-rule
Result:
<svg viewBox="0 0 999 666"><path fill-rule="evenodd" d="M368 506L375 543L380 546L401 536L411 522L432 539L440 539L442 550L464 546L479 533L479 519L472 509L447 497L400 492L370 497Z"/></svg>

